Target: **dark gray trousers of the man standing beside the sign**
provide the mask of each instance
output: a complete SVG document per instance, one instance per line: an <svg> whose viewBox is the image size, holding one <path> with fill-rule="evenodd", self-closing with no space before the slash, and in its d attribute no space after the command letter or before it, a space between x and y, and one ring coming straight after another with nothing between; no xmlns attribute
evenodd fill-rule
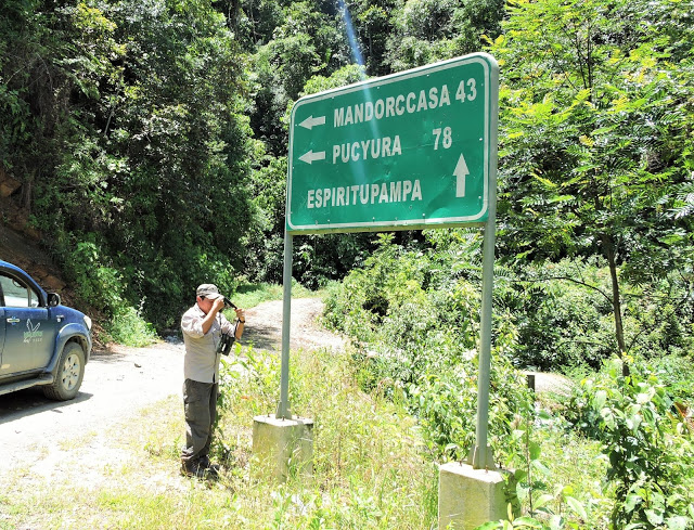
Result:
<svg viewBox="0 0 694 530"><path fill-rule="evenodd" d="M209 454L213 427L217 419L218 383L183 382L183 408L185 410L185 448L181 461L196 462Z"/></svg>

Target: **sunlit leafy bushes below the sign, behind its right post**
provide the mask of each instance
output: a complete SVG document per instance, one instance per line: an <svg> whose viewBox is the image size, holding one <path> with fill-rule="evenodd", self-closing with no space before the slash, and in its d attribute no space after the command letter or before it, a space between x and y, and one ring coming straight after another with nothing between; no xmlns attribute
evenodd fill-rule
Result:
<svg viewBox="0 0 694 530"><path fill-rule="evenodd" d="M406 399L432 450L460 460L475 432L480 301L472 249L479 242L459 231L449 235L444 242L430 234L438 251L426 253L382 235L364 268L352 271L340 287L331 286L325 320L362 342L365 351L355 358L362 387ZM472 263L460 261L465 255ZM447 272L451 269L457 273ZM513 451L506 443L510 425L528 406L528 396L507 361L515 348L513 325L499 318L494 335L491 443L505 461Z"/></svg>

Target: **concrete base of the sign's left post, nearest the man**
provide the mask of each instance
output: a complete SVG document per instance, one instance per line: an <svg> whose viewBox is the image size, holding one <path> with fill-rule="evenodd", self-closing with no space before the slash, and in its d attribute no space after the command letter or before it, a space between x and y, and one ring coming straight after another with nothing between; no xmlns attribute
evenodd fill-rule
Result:
<svg viewBox="0 0 694 530"><path fill-rule="evenodd" d="M313 421L274 414L253 418L254 478L284 482L290 476L313 473Z"/></svg>

